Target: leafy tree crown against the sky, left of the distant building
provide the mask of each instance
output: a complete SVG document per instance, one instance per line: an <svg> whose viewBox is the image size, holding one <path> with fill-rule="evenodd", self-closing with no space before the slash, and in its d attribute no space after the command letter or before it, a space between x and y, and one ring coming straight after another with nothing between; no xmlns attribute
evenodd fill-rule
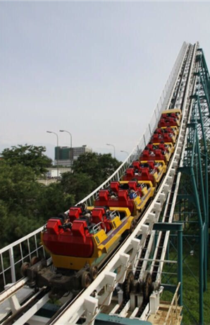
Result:
<svg viewBox="0 0 210 325"><path fill-rule="evenodd" d="M46 172L47 167L51 167L52 160L44 155L46 148L43 146L13 146L11 149L6 148L2 151L1 157L8 165L24 165L32 167L36 175Z"/></svg>

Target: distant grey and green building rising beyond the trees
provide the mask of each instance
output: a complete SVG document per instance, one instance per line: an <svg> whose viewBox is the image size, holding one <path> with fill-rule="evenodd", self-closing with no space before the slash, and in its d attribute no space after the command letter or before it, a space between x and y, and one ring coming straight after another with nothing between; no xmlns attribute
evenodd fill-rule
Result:
<svg viewBox="0 0 210 325"><path fill-rule="evenodd" d="M73 160L78 159L82 153L92 153L92 148L87 147L86 145L82 147L55 147L55 165L62 166L71 166Z"/></svg>

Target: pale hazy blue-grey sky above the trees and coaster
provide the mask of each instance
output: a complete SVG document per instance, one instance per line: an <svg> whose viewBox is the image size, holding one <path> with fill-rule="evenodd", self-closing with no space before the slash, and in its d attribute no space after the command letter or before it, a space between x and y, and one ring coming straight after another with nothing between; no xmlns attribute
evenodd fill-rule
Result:
<svg viewBox="0 0 210 325"><path fill-rule="evenodd" d="M86 144L124 160L183 42L210 69L209 2L0 2L0 152Z"/></svg>

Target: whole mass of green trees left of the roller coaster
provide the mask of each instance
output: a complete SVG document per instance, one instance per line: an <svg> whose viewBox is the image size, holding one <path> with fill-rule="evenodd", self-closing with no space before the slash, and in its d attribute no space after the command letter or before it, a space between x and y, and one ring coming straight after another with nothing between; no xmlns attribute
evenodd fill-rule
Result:
<svg viewBox="0 0 210 325"><path fill-rule="evenodd" d="M67 211L104 182L120 165L111 155L85 153L61 182L45 186L37 176L51 165L44 147L5 149L0 160L1 247L41 227L51 216Z"/></svg>

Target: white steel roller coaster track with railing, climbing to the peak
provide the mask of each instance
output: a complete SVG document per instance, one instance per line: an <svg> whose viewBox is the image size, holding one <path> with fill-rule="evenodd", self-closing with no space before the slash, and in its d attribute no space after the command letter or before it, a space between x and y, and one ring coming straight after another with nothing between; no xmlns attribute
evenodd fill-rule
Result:
<svg viewBox="0 0 210 325"><path fill-rule="evenodd" d="M156 249L151 257L155 235L153 226L154 223L159 221L161 212L162 222L171 223L173 221L175 200L180 183L178 167L183 164L187 139L187 122L192 110L190 95L192 95L196 85L194 73L198 69L198 63L196 62L198 50L198 43L195 45L183 44L163 89L163 94L154 110L149 127L140 138L137 146L106 182L81 201L86 203L87 206L92 206L99 189L104 189L113 180L121 179L126 168L132 161L139 158L144 146L149 142L149 138L156 129L161 112L174 107L180 108L183 112L183 119L166 176L159 188L156 189L154 199L142 214L142 218L137 223L135 230L118 247L109 261L106 261L106 264L91 285L82 290L77 297L73 298L69 295L63 307L58 309L51 319L35 316L35 313L49 300L48 290L44 288L35 293L31 289L25 289L27 278L22 278L16 282L17 270L23 261L27 261L27 259L31 259L35 255L39 256L41 254L43 256L45 254L44 249L38 244L38 236L42 228L1 249L0 276L5 290L0 294L0 324L26 324L26 322L27 324L77 324L78 320L84 315L85 322L83 324L94 324L97 314L104 311L106 314L120 317L147 320L149 303L142 300L142 295L137 293L125 299L121 293L118 293L118 301L116 301L113 293L116 290L121 291L123 283L125 284L128 281L129 271L134 273L135 280L142 281L148 272L152 274L152 281L156 283L156 291L153 294L154 300L159 300L160 293L163 290L159 285L161 283L169 232L159 232ZM23 254L25 247L27 247L27 254ZM10 266L6 266L8 261ZM149 261L152 263L148 263ZM50 265L50 259L48 263ZM9 285L9 283L12 283L12 285ZM27 294L24 290L27 290Z"/></svg>

